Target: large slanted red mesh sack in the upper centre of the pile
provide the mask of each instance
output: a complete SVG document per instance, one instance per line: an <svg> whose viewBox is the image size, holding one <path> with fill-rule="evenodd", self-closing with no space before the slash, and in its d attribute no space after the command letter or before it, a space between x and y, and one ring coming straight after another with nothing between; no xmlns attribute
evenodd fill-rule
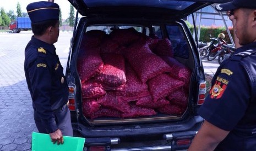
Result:
<svg viewBox="0 0 256 151"><path fill-rule="evenodd" d="M129 53L126 57L135 72L139 75L141 82L144 83L156 75L171 71L170 66L155 54Z"/></svg>

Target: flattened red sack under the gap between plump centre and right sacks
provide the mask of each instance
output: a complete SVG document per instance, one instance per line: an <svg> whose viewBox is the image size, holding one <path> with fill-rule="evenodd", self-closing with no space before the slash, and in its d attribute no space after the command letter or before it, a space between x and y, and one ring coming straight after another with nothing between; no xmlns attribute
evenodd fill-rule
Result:
<svg viewBox="0 0 256 151"><path fill-rule="evenodd" d="M136 106L153 109L164 107L167 104L170 104L170 102L165 98L154 102L151 96L141 97L138 101L136 101Z"/></svg>

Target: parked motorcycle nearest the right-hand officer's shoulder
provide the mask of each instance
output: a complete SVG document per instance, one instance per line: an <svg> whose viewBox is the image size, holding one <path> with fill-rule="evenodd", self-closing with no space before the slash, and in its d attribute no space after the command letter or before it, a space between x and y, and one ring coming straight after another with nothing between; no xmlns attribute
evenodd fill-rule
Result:
<svg viewBox="0 0 256 151"><path fill-rule="evenodd" d="M221 64L224 60L228 59L230 56L232 56L235 53L235 47L232 47L230 45L222 45L221 46L221 52L218 57L218 62Z"/></svg>

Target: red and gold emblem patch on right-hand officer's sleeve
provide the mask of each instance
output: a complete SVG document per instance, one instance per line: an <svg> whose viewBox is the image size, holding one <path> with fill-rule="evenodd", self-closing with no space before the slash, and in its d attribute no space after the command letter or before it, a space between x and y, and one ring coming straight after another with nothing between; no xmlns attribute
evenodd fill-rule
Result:
<svg viewBox="0 0 256 151"><path fill-rule="evenodd" d="M214 86L210 90L211 98L221 98L221 96L224 94L224 91L226 90L226 87L226 84L223 84L216 80Z"/></svg>

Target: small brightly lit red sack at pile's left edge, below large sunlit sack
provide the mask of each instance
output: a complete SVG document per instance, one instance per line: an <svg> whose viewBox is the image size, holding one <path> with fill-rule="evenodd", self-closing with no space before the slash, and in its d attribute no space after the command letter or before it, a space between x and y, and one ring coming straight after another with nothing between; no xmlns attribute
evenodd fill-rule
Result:
<svg viewBox="0 0 256 151"><path fill-rule="evenodd" d="M99 96L105 95L106 91L101 84L89 80L81 85L82 97L83 98L98 98Z"/></svg>

